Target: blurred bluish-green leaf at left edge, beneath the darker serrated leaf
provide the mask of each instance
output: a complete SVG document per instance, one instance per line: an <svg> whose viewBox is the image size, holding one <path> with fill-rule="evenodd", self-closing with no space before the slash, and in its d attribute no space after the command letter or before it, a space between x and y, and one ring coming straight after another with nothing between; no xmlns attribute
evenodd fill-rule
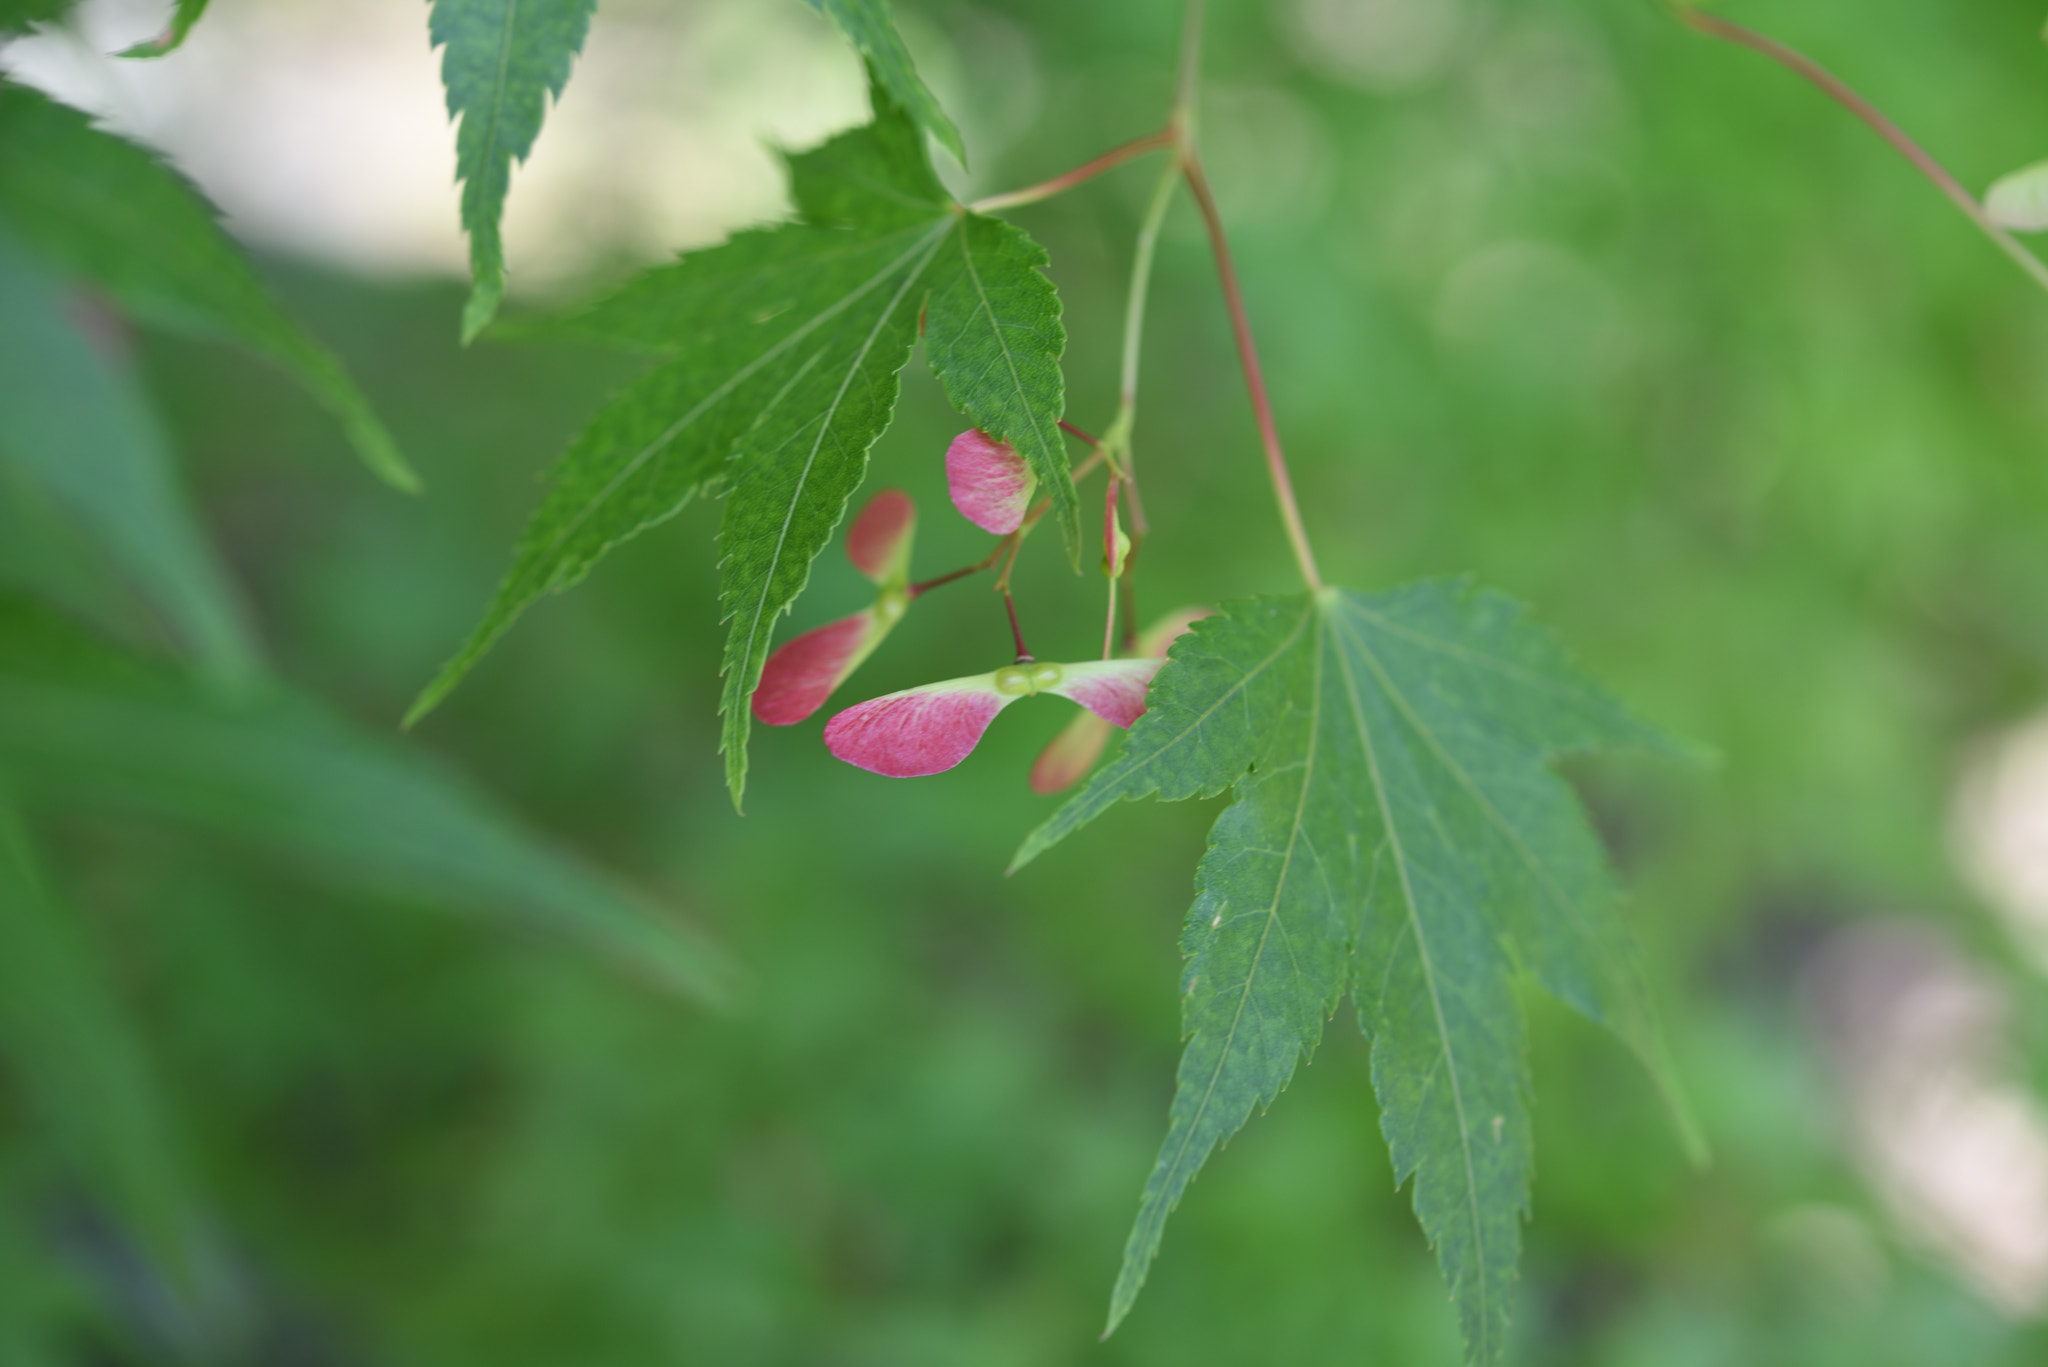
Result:
<svg viewBox="0 0 2048 1367"><path fill-rule="evenodd" d="M98 539L209 674L242 687L260 672L233 586L176 484L154 412L4 230L0 461Z"/></svg>

